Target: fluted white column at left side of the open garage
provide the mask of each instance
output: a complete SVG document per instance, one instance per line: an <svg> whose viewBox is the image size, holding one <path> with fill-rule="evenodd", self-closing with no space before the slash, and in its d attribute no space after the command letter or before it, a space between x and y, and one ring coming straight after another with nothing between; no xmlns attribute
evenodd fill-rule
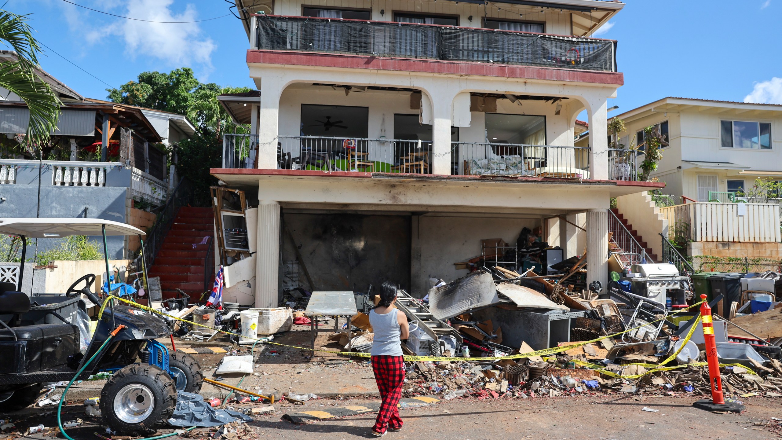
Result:
<svg viewBox="0 0 782 440"><path fill-rule="evenodd" d="M258 204L258 238L255 254L255 306L277 307L280 268L280 204Z"/></svg>

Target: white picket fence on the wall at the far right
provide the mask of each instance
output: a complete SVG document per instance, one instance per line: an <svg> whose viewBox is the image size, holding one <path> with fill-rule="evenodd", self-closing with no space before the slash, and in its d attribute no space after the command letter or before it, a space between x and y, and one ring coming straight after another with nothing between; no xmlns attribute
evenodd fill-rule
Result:
<svg viewBox="0 0 782 440"><path fill-rule="evenodd" d="M779 204L692 203L661 207L668 219L669 239L685 229L692 241L780 241Z"/></svg>

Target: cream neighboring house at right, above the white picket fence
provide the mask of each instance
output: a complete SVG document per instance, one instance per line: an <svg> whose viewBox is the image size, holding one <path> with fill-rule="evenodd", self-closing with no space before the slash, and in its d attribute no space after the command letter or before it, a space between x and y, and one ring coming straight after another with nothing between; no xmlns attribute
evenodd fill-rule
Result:
<svg viewBox="0 0 782 440"><path fill-rule="evenodd" d="M782 180L782 105L669 97L617 117L626 124L619 139L626 146L643 142L649 125L667 135L651 174L666 194L726 202L755 179Z"/></svg>

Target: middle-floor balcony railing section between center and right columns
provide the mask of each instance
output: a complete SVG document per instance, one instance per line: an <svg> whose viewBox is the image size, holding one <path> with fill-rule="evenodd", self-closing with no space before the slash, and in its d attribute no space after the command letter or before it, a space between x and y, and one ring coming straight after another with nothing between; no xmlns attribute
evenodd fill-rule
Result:
<svg viewBox="0 0 782 440"><path fill-rule="evenodd" d="M589 179L589 148L452 142L452 175L533 175Z"/></svg>

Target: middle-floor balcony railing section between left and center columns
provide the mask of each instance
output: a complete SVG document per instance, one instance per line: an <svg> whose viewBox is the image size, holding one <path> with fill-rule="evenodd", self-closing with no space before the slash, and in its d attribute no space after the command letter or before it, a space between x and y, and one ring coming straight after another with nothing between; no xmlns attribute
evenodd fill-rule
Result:
<svg viewBox="0 0 782 440"><path fill-rule="evenodd" d="M432 142L279 136L278 168L431 174Z"/></svg>

